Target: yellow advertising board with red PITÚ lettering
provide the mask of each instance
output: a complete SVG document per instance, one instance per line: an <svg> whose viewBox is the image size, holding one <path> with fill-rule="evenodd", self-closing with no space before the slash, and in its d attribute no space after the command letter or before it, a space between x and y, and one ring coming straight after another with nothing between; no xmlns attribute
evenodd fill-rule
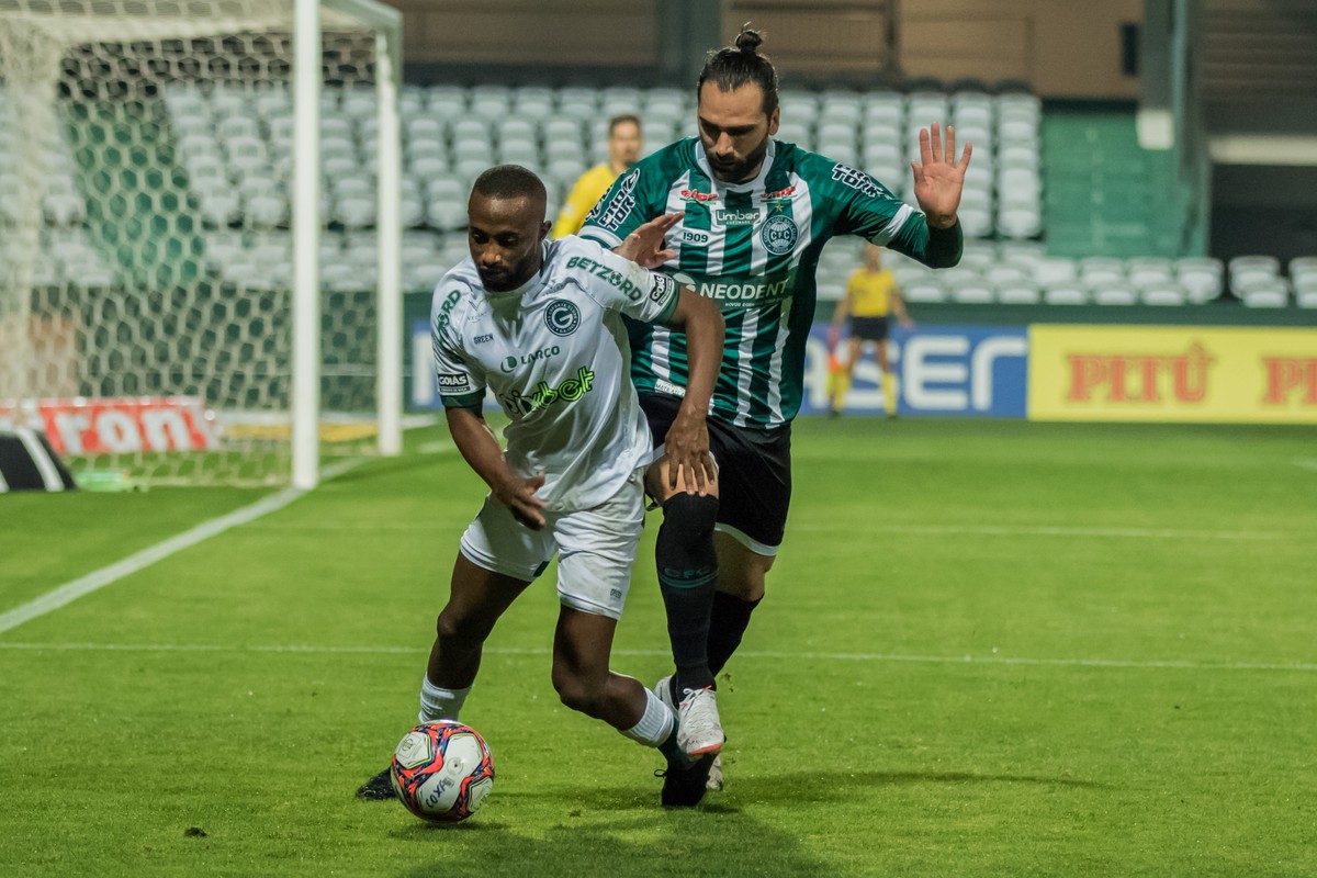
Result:
<svg viewBox="0 0 1317 878"><path fill-rule="evenodd" d="M1029 329L1029 417L1317 424L1317 329Z"/></svg>

